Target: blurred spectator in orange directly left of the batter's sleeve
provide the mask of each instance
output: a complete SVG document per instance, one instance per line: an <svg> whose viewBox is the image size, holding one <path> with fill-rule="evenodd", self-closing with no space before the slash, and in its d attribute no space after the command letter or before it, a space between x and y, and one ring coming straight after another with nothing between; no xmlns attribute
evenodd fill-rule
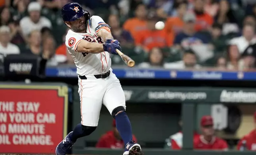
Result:
<svg viewBox="0 0 256 155"><path fill-rule="evenodd" d="M68 32L70 30L69 28L66 30ZM66 34L62 36L62 45L60 45L55 52L56 55L56 61L58 63L64 63L66 62L67 64L74 64L74 59L72 58L71 54L68 53L65 41L66 41Z"/></svg>

